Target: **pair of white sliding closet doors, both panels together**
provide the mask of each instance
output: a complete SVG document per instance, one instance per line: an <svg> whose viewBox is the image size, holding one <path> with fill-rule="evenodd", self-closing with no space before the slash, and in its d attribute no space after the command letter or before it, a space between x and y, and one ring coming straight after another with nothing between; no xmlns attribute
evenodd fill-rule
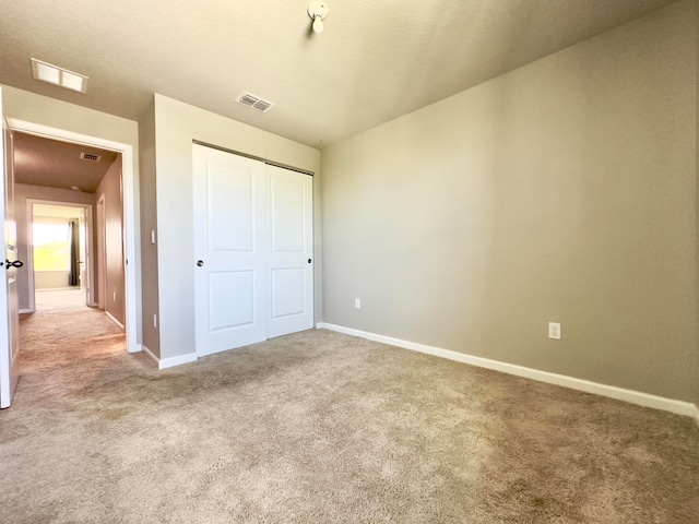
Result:
<svg viewBox="0 0 699 524"><path fill-rule="evenodd" d="M312 177L193 146L199 356L313 326Z"/></svg>

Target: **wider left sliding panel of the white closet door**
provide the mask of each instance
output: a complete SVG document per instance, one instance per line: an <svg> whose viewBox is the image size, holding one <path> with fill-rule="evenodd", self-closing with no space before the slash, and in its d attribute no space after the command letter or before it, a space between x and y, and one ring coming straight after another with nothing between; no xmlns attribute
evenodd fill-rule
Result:
<svg viewBox="0 0 699 524"><path fill-rule="evenodd" d="M266 338L264 164L193 146L194 312L199 356Z"/></svg>

